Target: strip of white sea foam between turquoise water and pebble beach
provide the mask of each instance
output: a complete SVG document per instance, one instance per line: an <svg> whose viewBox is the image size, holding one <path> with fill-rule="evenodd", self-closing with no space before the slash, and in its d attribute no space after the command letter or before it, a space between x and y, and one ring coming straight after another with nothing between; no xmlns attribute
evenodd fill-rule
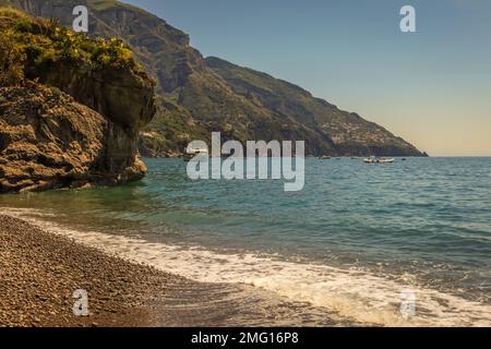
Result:
<svg viewBox="0 0 491 349"><path fill-rule="evenodd" d="M394 279L360 268L294 263L274 255L227 254L97 231L76 231L36 218L32 209L2 209L37 226L135 262L197 281L248 284L294 301L336 311L354 322L382 326L490 326L491 306L419 287L410 275ZM27 215L28 214L28 215ZM39 213L39 215L41 215ZM400 312L400 292L416 294L416 315Z"/></svg>

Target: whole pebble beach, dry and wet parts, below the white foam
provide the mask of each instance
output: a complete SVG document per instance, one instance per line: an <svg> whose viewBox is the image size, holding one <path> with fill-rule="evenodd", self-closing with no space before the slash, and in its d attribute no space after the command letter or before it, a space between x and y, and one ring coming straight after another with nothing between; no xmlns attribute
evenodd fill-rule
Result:
<svg viewBox="0 0 491 349"><path fill-rule="evenodd" d="M79 289L88 316L73 314ZM361 324L249 285L194 281L0 214L0 327L266 325Z"/></svg>

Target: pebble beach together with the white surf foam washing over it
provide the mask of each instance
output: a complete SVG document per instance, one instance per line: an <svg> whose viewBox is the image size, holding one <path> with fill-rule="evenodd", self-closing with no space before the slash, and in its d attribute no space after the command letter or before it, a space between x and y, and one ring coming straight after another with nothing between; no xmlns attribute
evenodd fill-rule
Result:
<svg viewBox="0 0 491 349"><path fill-rule="evenodd" d="M253 255L176 250L139 237L81 227L73 230L50 222L43 218L46 213L32 208L2 208L0 327L489 324L488 308L482 303L432 289L417 290L418 304L441 316L429 313L404 321L391 306L397 302L398 293L394 292L404 285L375 275ZM264 265L266 270L261 268ZM268 276L267 270L274 274ZM367 282L376 288L361 300L374 308L368 303L361 306L360 300L343 291L363 288ZM303 285L303 291L296 291L297 285ZM72 312L76 301L73 291L81 288L89 293L87 317L73 316ZM380 308L376 301L387 305ZM440 301L455 309L439 305ZM475 315L479 318L469 322Z"/></svg>

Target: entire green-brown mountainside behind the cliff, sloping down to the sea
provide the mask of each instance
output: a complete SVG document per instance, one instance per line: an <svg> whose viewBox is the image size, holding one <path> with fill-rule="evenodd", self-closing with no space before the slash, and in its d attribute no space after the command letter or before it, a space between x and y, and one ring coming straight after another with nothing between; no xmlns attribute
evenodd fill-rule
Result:
<svg viewBox="0 0 491 349"><path fill-rule="evenodd" d="M142 133L144 155L175 155L195 137L304 140L307 154L422 154L356 113L307 91L217 58L203 59L189 37L164 20L112 0L0 0L71 25L72 9L89 8L89 32L120 37L157 81L158 111Z"/></svg>

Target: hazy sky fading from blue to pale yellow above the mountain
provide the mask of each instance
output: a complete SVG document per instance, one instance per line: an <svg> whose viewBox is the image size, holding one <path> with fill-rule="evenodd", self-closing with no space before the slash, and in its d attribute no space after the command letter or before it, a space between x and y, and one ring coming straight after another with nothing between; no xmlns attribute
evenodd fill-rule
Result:
<svg viewBox="0 0 491 349"><path fill-rule="evenodd" d="M489 0L125 0L430 155L491 156ZM399 29L416 8L417 33Z"/></svg>

